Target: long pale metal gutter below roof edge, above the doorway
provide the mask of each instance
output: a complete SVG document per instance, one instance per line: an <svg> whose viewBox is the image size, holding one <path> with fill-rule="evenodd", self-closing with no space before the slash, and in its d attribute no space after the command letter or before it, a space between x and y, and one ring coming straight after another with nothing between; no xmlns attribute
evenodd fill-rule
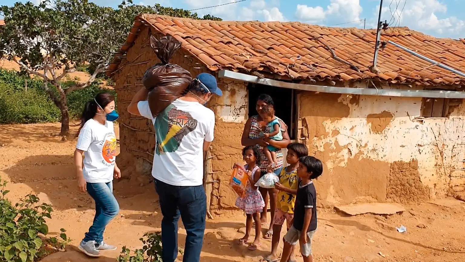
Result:
<svg viewBox="0 0 465 262"><path fill-rule="evenodd" d="M368 96L388 96L388 97L415 97L415 98L465 98L465 92L462 91L443 91L443 90L400 90L400 89L372 89L372 88L355 88L355 87L337 87L327 85L305 85L296 83L287 83L273 79L259 78L257 76L221 70L218 73L219 78L233 79L248 83L260 85L271 85L283 88L290 88L303 91L336 93L336 94L353 94Z"/></svg>

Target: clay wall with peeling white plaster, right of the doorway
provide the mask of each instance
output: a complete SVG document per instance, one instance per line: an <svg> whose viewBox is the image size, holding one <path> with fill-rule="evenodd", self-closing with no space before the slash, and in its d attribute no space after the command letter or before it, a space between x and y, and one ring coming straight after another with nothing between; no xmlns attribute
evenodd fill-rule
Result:
<svg viewBox="0 0 465 262"><path fill-rule="evenodd" d="M298 101L299 141L325 164L322 205L419 203L464 190L461 101L446 118L421 118L422 98L301 92Z"/></svg>

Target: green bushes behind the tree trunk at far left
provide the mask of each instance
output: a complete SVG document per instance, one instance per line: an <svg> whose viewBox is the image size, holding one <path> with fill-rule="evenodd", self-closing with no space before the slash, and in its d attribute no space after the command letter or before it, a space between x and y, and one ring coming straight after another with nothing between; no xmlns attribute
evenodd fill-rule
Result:
<svg viewBox="0 0 465 262"><path fill-rule="evenodd" d="M25 83L27 81L27 91ZM62 83L63 88L74 85L68 80ZM70 118L79 118L87 101L99 92L109 92L115 96L114 90L100 88L101 80L83 90L67 95ZM51 86L53 89L53 86ZM55 90L56 96L58 92ZM60 121L60 110L42 87L38 78L31 79L19 72L0 68L0 124L32 124Z"/></svg>

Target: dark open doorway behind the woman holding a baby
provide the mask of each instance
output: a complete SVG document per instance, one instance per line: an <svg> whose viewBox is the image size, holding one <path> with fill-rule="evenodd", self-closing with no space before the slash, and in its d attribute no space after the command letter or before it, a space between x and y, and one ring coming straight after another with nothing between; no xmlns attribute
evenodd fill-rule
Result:
<svg viewBox="0 0 465 262"><path fill-rule="evenodd" d="M296 95L295 90L271 85L249 84L249 118L257 115L255 103L260 94L268 94L273 98L276 116L288 126L291 139L295 139L296 130Z"/></svg>

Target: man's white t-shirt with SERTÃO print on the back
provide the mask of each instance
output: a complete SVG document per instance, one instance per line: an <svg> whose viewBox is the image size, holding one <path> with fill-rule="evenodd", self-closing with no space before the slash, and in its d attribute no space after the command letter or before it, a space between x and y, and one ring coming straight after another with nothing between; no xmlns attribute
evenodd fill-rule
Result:
<svg viewBox="0 0 465 262"><path fill-rule="evenodd" d="M213 141L213 111L198 102L176 99L153 118L148 101L137 106L141 116L152 119L156 134L152 176L175 186L201 185L203 143Z"/></svg>

